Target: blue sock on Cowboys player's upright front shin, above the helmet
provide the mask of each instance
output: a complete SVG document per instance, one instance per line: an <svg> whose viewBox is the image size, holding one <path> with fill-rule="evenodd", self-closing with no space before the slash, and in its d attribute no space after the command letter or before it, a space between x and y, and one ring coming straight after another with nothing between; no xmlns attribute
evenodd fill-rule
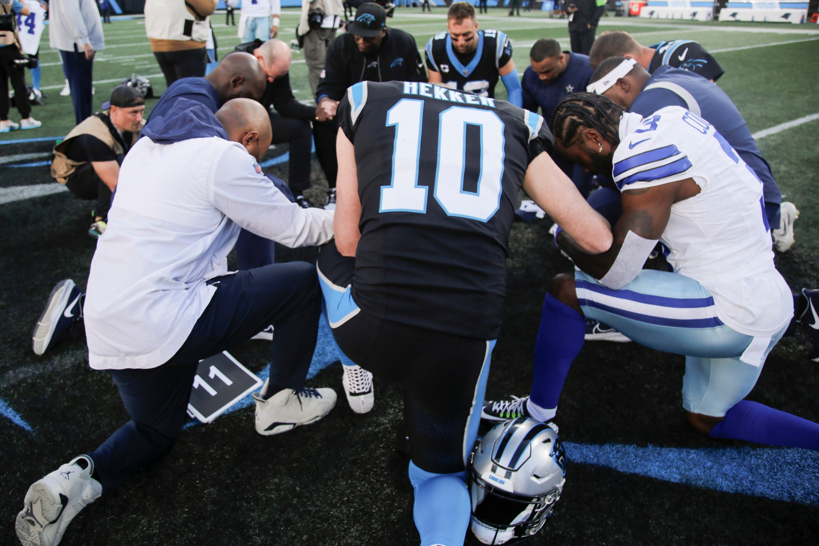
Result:
<svg viewBox="0 0 819 546"><path fill-rule="evenodd" d="M586 321L566 304L546 294L535 344L535 379L530 399L541 408L557 408L568 368L583 347Z"/></svg>

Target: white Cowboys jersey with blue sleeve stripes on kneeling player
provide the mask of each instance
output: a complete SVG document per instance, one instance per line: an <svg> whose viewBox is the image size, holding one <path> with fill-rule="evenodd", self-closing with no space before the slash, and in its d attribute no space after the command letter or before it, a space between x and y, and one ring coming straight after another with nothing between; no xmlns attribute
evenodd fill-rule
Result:
<svg viewBox="0 0 819 546"><path fill-rule="evenodd" d="M621 192L693 178L698 195L672 205L660 240L675 273L708 288L717 315L748 336L770 336L793 315L776 271L762 183L713 125L679 106L624 114L613 178Z"/></svg>

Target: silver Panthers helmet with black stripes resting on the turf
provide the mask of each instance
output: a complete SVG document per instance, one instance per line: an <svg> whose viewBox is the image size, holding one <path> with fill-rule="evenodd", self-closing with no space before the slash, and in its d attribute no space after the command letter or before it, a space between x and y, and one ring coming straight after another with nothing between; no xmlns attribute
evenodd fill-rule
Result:
<svg viewBox="0 0 819 546"><path fill-rule="evenodd" d="M469 527L482 544L516 544L551 517L566 482L554 423L518 417L489 431L469 456Z"/></svg>

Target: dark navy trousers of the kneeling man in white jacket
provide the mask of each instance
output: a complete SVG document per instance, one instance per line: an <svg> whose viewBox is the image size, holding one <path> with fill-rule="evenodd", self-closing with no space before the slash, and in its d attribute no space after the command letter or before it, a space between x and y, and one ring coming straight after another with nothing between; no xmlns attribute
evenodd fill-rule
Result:
<svg viewBox="0 0 819 546"><path fill-rule="evenodd" d="M268 393L304 386L315 351L321 292L315 267L268 265L211 279L216 291L187 341L156 368L111 370L131 420L93 453L102 493L173 446L188 422L188 400L199 361L247 341L273 324Z"/></svg>

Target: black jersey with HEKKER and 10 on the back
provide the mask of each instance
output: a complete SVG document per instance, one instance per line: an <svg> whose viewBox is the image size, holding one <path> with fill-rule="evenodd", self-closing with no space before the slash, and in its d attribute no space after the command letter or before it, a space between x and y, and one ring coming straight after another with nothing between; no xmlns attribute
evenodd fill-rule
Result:
<svg viewBox="0 0 819 546"><path fill-rule="evenodd" d="M540 115L432 83L361 82L338 105L355 146L361 239L352 296L378 318L496 339Z"/></svg>

